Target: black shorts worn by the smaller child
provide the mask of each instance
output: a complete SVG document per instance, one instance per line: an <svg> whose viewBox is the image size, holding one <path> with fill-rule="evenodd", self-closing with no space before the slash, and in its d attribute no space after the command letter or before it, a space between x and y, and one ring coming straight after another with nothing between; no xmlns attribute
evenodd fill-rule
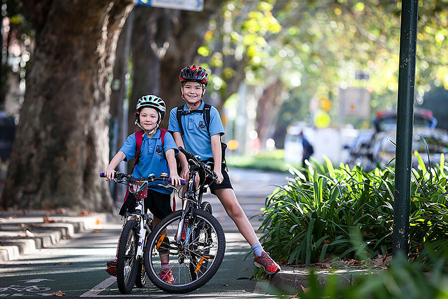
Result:
<svg viewBox="0 0 448 299"><path fill-rule="evenodd" d="M136 202L137 200L134 194L129 193L118 214L120 214L121 216L125 216L126 212L134 212ZM173 212L173 210L171 209L171 194L148 190L148 196L145 198L144 204L145 208L149 209L154 217L157 217L159 219L163 219L171 212Z"/></svg>

